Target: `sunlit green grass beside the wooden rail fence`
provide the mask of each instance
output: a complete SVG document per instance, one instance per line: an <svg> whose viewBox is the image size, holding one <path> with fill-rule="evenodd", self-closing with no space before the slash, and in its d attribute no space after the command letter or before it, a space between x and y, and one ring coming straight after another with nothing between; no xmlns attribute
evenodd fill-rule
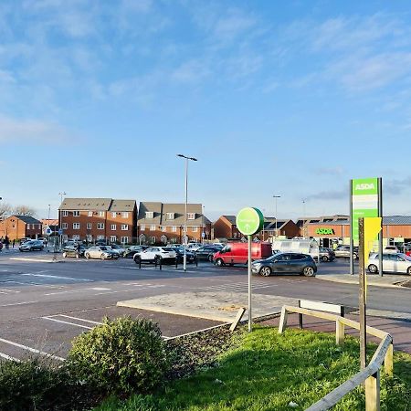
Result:
<svg viewBox="0 0 411 411"><path fill-rule="evenodd" d="M305 409L359 370L358 341L342 348L332 334L256 327L217 367L167 383L153 395L111 398L96 411L290 410ZM375 346L370 347L374 353ZM411 356L395 353L395 377L382 373L382 410L411 409ZM298 406L292 408L290 403ZM346 395L335 410L364 409L362 389Z"/></svg>

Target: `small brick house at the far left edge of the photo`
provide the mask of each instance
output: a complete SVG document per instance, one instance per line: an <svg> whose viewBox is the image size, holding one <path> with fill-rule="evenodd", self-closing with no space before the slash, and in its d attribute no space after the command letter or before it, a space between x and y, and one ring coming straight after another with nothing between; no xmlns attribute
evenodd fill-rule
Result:
<svg viewBox="0 0 411 411"><path fill-rule="evenodd" d="M32 216L9 216L0 221L0 238L5 236L11 241L24 237L41 237L41 221Z"/></svg>

